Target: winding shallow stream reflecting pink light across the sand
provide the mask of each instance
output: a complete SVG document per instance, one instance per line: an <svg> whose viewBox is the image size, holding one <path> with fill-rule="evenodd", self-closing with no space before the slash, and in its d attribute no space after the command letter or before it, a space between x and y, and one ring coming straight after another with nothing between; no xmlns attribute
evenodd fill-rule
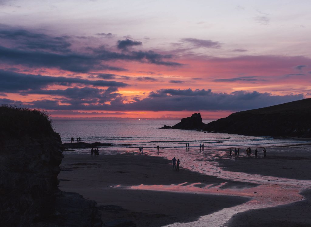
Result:
<svg viewBox="0 0 311 227"><path fill-rule="evenodd" d="M241 150L244 151L244 149ZM157 155L157 154L154 150L148 150L144 152L144 155ZM198 149L190 149L190 150L188 149L186 151L180 152L179 149L178 155L176 155L176 150L165 150L165 152L160 152L159 155L169 159L171 157L176 156L176 158L180 158L181 165L183 166L183 168L187 168L192 171L197 171L205 175L217 176L224 180L234 180L239 182L242 181L258 184L258 186L249 185L241 188L239 186L234 185L226 187L225 182L220 185L205 185L200 182L188 184L187 182L185 182L179 185L133 185L129 187L129 189L133 190L208 193L208 194L245 196L251 198L251 200L246 203L234 207L224 208L218 212L202 216L197 221L190 223L174 223L170 225L165 225L165 227L173 227L173 226L225 227L226 222L230 220L232 216L234 216L239 212L293 203L301 199L304 199L304 197L300 195L299 192L301 192L304 189L311 188L310 180L295 180L273 176L261 176L258 174L248 174L243 172L225 171L221 167L217 167L217 163L215 163L215 160L217 160L217 158L228 157L228 152L225 151L219 150L199 151ZM232 161L235 161L234 158L232 158ZM122 187L122 185L118 186Z"/></svg>

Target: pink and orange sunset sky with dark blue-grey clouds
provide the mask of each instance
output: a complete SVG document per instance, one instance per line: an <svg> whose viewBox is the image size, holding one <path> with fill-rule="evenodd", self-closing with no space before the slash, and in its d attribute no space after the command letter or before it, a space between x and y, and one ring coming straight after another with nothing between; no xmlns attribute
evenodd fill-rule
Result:
<svg viewBox="0 0 311 227"><path fill-rule="evenodd" d="M0 104L218 119L311 97L310 1L0 0Z"/></svg>

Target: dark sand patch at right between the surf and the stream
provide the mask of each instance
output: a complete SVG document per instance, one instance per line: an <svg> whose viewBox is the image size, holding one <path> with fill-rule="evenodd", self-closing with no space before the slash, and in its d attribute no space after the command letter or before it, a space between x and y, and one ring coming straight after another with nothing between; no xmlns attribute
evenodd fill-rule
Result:
<svg viewBox="0 0 311 227"><path fill-rule="evenodd" d="M311 146L269 147L267 157L263 157L262 148L258 149L258 158L246 157L246 149L240 149L239 158L228 158L228 150L223 150L225 157L211 160L226 171L260 174L262 176L284 177L289 179L311 180ZM233 149L234 150L234 149ZM234 156L234 152L232 153Z"/></svg>

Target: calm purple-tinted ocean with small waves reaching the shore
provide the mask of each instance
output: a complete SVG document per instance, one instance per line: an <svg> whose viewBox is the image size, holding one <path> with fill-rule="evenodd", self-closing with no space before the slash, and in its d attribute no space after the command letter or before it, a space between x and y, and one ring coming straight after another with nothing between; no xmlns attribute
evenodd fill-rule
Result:
<svg viewBox="0 0 311 227"><path fill-rule="evenodd" d="M179 120L53 120L53 127L63 143L70 143L70 138L81 137L82 142L109 143L113 146L106 150L137 151L140 145L144 151L160 149L177 150L190 144L190 149L204 143L205 149L217 148L262 148L277 145L309 143L310 141L273 138L271 136L242 136L223 133L204 133L196 130L160 129L164 125L173 126ZM211 121L203 121L208 123ZM259 150L259 149L258 149ZM77 152L89 152L89 149L77 149Z"/></svg>

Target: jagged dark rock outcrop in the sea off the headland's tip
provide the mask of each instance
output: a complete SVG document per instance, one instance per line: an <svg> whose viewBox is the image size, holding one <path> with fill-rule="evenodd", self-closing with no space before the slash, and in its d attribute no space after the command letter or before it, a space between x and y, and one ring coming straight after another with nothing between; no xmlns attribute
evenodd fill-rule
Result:
<svg viewBox="0 0 311 227"><path fill-rule="evenodd" d="M192 114L191 117L181 119L181 122L170 127L165 125L162 128L173 128L173 129L202 129L206 124L202 122L202 117L200 113Z"/></svg>

